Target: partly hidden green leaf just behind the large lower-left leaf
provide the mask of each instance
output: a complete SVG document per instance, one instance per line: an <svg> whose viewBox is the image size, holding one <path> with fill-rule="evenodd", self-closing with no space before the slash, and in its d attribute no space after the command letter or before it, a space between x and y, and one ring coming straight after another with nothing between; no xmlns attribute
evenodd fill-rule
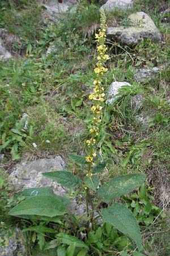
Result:
<svg viewBox="0 0 170 256"><path fill-rule="evenodd" d="M20 191L18 193L18 196L26 196L26 197L41 196L41 195L45 195L45 196L54 195L53 189L49 188L49 187L46 187L46 188L27 188L27 189L24 189L23 191Z"/></svg>

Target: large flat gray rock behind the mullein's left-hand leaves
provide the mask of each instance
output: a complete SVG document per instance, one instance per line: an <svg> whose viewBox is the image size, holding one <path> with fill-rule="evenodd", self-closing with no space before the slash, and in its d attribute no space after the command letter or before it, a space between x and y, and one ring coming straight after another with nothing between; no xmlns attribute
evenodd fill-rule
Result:
<svg viewBox="0 0 170 256"><path fill-rule="evenodd" d="M64 196L68 192L67 189L63 188L56 181L42 176L43 172L62 171L64 166L65 163L61 156L50 159L38 159L32 162L23 161L16 164L13 168L8 183L10 183L10 186L16 189L16 191L27 188L50 187L56 195ZM86 207L84 199L81 199L81 203L79 201L78 198L71 200L70 209L75 215L81 216L84 214Z"/></svg>

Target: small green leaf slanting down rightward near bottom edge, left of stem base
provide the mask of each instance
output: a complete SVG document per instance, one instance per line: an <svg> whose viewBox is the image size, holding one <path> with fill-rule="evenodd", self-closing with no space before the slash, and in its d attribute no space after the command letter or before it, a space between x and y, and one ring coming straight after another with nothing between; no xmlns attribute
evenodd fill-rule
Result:
<svg viewBox="0 0 170 256"><path fill-rule="evenodd" d="M88 249L88 246L86 245L86 243L84 243L82 240L78 239L77 237L70 236L65 233L59 233L58 237L62 238L62 243L65 243L65 245L71 245L72 243L75 242L76 247Z"/></svg>

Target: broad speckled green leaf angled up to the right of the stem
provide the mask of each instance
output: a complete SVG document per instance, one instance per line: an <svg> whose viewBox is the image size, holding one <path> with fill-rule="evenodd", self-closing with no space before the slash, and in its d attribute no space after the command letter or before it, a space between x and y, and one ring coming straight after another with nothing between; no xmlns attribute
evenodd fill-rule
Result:
<svg viewBox="0 0 170 256"><path fill-rule="evenodd" d="M128 174L115 177L108 181L108 183L101 185L98 190L98 196L105 203L109 203L129 192L137 189L145 181L143 174Z"/></svg>

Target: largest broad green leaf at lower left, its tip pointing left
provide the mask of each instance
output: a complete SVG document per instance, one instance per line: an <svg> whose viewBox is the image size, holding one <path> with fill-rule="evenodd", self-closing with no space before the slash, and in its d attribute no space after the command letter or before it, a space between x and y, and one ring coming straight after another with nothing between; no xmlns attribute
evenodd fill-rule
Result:
<svg viewBox="0 0 170 256"><path fill-rule="evenodd" d="M54 217L65 214L65 200L58 196L32 196L10 210L12 216L39 215Z"/></svg>

